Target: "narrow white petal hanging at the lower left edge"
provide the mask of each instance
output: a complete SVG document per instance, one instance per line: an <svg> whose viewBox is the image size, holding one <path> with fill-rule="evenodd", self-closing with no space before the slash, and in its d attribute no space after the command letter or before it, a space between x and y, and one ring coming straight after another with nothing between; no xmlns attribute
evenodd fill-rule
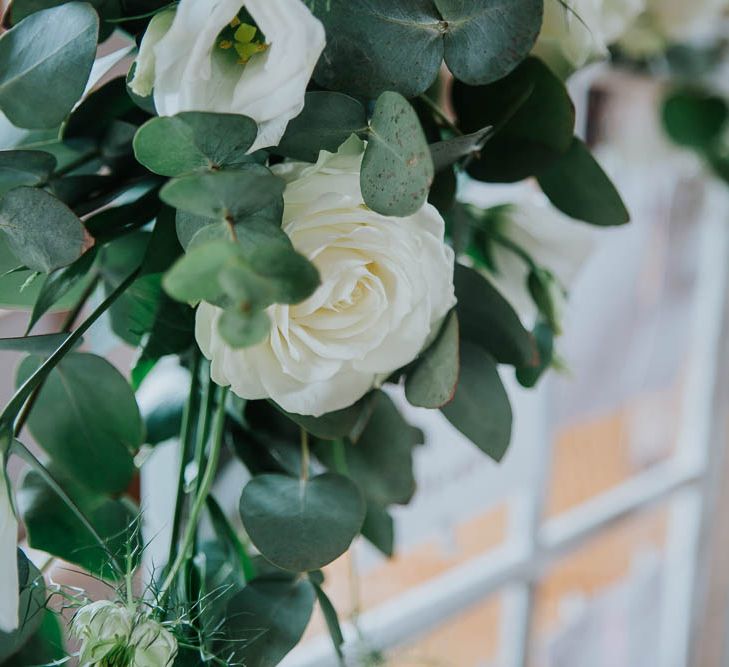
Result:
<svg viewBox="0 0 729 667"><path fill-rule="evenodd" d="M18 520L0 454L0 631L18 628Z"/></svg>

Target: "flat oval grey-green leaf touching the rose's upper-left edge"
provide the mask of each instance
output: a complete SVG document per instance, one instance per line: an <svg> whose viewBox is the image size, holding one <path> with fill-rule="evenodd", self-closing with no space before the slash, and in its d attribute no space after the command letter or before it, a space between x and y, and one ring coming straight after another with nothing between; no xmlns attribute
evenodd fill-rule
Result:
<svg viewBox="0 0 729 667"><path fill-rule="evenodd" d="M193 174L170 181L160 193L174 208L217 220L245 218L281 201L285 183L260 165Z"/></svg>

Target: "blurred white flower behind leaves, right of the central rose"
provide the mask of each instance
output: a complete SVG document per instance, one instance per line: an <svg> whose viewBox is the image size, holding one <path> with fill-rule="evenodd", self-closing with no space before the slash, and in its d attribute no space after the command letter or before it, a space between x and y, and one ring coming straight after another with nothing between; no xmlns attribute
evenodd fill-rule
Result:
<svg viewBox="0 0 729 667"><path fill-rule="evenodd" d="M527 184L492 187L471 182L462 198L482 208L505 206L498 233L551 274L552 280L546 287L559 324L566 292L592 254L595 231L562 214ZM511 303L522 322L533 325L537 307L528 287L529 265L505 245L494 243L491 251L495 269L489 272L488 278Z"/></svg>

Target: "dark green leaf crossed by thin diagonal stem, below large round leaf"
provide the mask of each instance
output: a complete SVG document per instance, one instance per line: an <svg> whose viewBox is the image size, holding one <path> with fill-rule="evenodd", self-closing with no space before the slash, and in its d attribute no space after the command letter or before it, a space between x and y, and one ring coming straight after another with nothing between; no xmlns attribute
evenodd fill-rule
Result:
<svg viewBox="0 0 729 667"><path fill-rule="evenodd" d="M124 561L129 549L130 553L136 552L133 561L138 561L139 535L135 522L139 517L130 503L111 500L56 471L53 474L104 539L108 552L36 472L26 475L18 494L30 545L108 579L118 576L110 554Z"/></svg>

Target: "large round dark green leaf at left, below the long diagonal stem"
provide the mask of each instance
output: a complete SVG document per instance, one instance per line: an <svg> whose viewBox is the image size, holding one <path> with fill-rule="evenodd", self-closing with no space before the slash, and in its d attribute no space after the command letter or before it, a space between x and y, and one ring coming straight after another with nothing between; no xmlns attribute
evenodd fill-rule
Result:
<svg viewBox="0 0 729 667"><path fill-rule="evenodd" d="M19 383L41 361L25 359ZM144 442L129 383L93 354L69 354L58 364L38 395L28 427L64 473L99 492L127 488L135 469L132 452Z"/></svg>

